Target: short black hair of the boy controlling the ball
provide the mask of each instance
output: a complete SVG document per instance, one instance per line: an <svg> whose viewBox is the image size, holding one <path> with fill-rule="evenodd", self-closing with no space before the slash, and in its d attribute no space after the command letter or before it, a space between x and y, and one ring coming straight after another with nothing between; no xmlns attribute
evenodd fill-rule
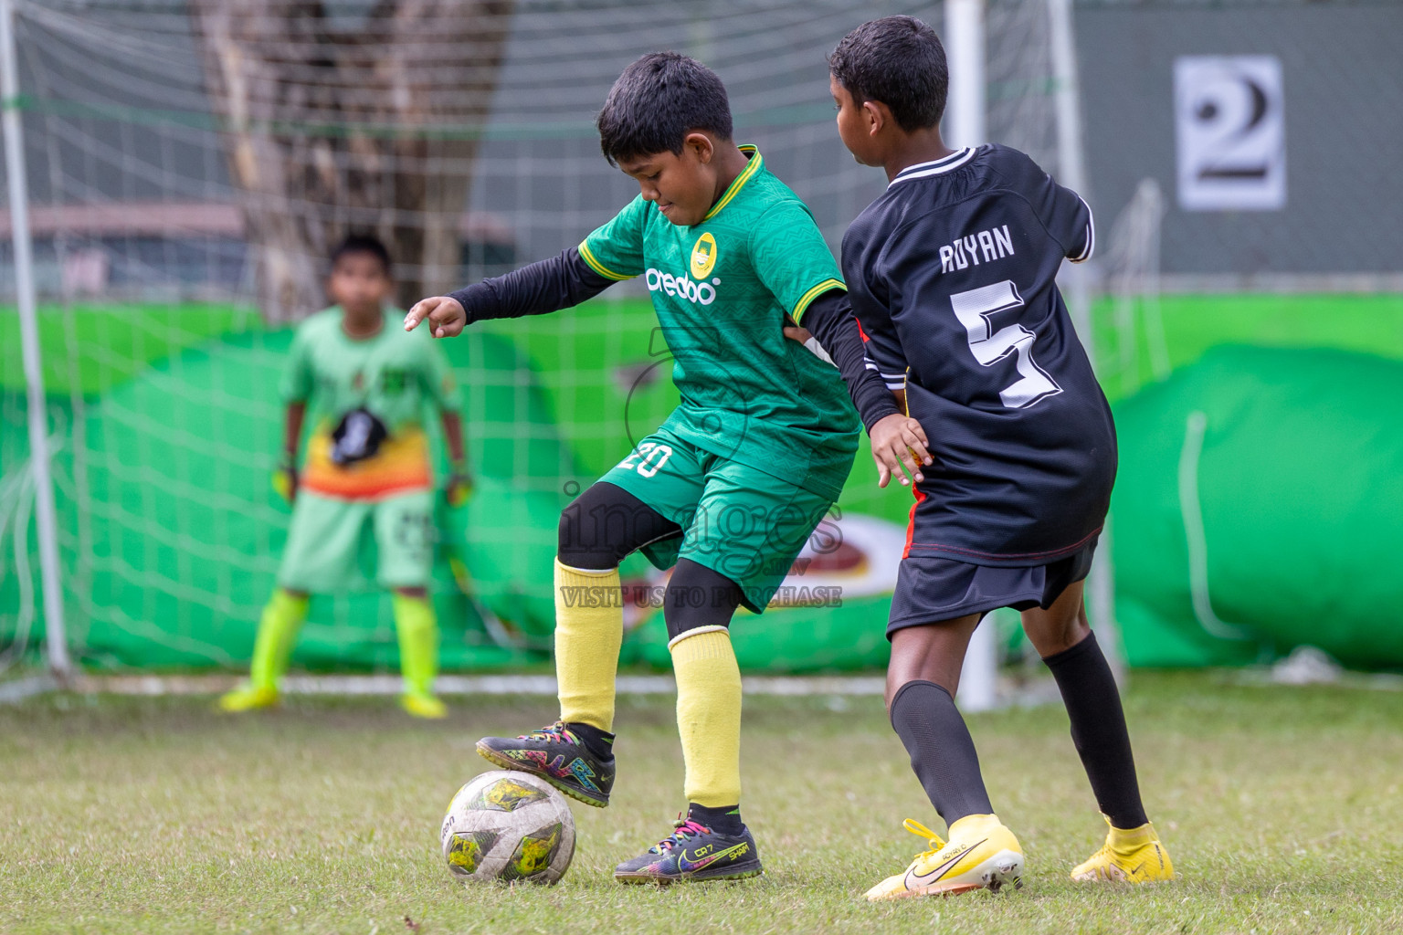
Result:
<svg viewBox="0 0 1403 935"><path fill-rule="evenodd" d="M619 76L595 119L599 149L619 160L682 154L687 133L731 139L731 102L716 71L676 52L650 52Z"/></svg>

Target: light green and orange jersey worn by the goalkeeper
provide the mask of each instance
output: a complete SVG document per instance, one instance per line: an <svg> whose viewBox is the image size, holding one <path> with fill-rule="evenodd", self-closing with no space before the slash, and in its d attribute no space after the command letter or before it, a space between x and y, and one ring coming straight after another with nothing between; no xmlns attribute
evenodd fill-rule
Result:
<svg viewBox="0 0 1403 935"><path fill-rule="evenodd" d="M432 485L424 405L457 412L460 400L453 370L428 329L405 332L403 317L386 311L384 327L369 338L347 335L338 307L297 327L282 398L311 408L306 489L344 500L379 500ZM355 409L376 416L387 436L373 456L337 464L331 433Z"/></svg>

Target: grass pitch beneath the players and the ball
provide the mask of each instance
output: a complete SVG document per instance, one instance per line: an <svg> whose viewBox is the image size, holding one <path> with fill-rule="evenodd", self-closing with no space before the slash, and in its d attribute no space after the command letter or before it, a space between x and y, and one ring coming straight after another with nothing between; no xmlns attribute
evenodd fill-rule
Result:
<svg viewBox="0 0 1403 935"><path fill-rule="evenodd" d="M574 807L554 889L463 887L436 849L453 791L485 768L471 742L549 721L546 699L459 699L431 725L389 699L224 719L203 698L34 698L0 708L0 931L1403 929L1403 694L1138 674L1127 705L1177 882L1066 882L1101 824L1065 715L1038 708L971 719L1026 887L868 906L918 849L901 820L932 819L875 698L749 699L746 816L767 875L665 890L609 878L680 803L664 698L622 701L616 803Z"/></svg>

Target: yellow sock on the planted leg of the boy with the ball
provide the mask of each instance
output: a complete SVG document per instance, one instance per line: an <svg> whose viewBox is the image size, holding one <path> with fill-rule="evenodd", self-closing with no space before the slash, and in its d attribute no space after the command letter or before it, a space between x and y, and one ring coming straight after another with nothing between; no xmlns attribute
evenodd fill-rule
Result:
<svg viewBox="0 0 1403 935"><path fill-rule="evenodd" d="M692 629L671 643L678 677L678 733L687 802L741 802L741 669L724 627Z"/></svg>

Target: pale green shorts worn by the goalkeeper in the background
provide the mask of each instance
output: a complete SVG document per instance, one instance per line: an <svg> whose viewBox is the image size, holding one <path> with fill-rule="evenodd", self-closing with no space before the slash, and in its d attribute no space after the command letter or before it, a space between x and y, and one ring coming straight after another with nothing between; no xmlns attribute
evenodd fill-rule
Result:
<svg viewBox="0 0 1403 935"><path fill-rule="evenodd" d="M299 491L278 585L330 594L356 579L366 523L375 533L376 580L384 587L425 587L434 562L434 491L377 502L334 500Z"/></svg>

